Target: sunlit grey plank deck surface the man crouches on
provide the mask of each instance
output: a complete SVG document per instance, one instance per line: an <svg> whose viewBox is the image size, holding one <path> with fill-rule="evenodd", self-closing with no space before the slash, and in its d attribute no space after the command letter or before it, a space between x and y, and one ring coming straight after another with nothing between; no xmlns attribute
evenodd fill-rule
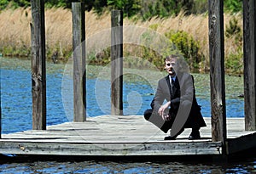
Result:
<svg viewBox="0 0 256 174"><path fill-rule="evenodd" d="M46 131L25 131L3 134L3 139L36 142L160 142L166 136L156 126L144 121L142 115L113 116L104 115L90 118L86 122L67 122L61 125L48 126ZM205 117L207 125L211 118ZM128 122L127 122L128 121ZM131 121L131 122L130 122ZM228 138L238 138L253 132L245 132L244 119L229 118L227 121ZM200 141L212 141L211 127L201 128ZM190 129L178 136L175 142L189 142ZM38 139L38 140L37 140Z"/></svg>

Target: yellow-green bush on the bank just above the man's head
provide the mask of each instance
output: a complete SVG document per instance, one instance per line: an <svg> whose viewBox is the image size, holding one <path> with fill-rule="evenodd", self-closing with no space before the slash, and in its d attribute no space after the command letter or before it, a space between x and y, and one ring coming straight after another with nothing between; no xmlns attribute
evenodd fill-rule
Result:
<svg viewBox="0 0 256 174"><path fill-rule="evenodd" d="M200 53L200 43L195 41L192 36L185 31L170 31L166 36L175 44L178 50L183 54L184 59L189 64L190 68L197 70L199 63L203 59Z"/></svg>

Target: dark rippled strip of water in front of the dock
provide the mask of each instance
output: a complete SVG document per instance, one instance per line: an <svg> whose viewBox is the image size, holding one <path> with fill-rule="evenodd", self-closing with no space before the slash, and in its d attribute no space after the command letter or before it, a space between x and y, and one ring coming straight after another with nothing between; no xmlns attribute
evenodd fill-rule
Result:
<svg viewBox="0 0 256 174"><path fill-rule="evenodd" d="M172 161L32 161L0 165L1 173L255 173L256 163Z"/></svg>

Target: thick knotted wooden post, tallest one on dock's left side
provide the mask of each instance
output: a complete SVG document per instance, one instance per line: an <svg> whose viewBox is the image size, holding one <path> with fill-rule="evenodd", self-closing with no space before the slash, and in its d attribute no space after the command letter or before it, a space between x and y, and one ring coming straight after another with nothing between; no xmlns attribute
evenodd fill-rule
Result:
<svg viewBox="0 0 256 174"><path fill-rule="evenodd" d="M46 129L44 0L32 0L32 129Z"/></svg>

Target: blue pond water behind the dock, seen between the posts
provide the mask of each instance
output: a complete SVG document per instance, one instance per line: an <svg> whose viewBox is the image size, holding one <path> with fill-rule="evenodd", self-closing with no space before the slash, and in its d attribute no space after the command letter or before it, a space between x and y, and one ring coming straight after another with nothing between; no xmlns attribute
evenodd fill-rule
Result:
<svg viewBox="0 0 256 174"><path fill-rule="evenodd" d="M10 133L31 129L32 82L30 61L22 60L23 64L21 63L20 66L13 68L10 67L11 61L14 61L13 64L19 65L19 59L1 59L5 63L1 65L2 132ZM73 121L73 115L67 115L67 113L73 113L73 98L67 98L66 101L63 101L61 96L64 67L50 63L48 63L48 66L49 73L46 76L47 125ZM195 81L197 76L208 78L208 75L195 74L194 76ZM201 82L196 84L198 103L202 106L202 115L209 117L211 115L209 84L207 86L203 84L202 87L200 85ZM155 87L150 86L147 82L125 81L123 90L124 115L143 115L144 110L150 108L149 104L153 98L154 89ZM68 94L72 95L72 90L69 90ZM244 102L243 99L237 98L237 95L239 93L227 92L227 117L244 116ZM92 117L109 115L110 101L110 81L87 78L86 115ZM64 109L63 103L68 103L68 107Z"/></svg>

